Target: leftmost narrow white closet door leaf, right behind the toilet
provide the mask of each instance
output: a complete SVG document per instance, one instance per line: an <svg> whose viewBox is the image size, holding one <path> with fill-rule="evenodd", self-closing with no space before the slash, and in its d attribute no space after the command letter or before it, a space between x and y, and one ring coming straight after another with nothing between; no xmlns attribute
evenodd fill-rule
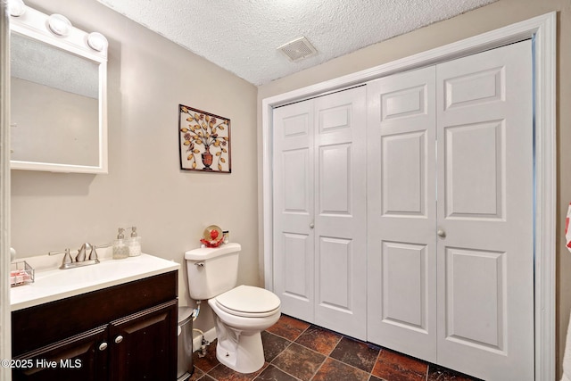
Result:
<svg viewBox="0 0 571 381"><path fill-rule="evenodd" d="M313 101L274 110L274 292L282 312L314 319Z"/></svg>

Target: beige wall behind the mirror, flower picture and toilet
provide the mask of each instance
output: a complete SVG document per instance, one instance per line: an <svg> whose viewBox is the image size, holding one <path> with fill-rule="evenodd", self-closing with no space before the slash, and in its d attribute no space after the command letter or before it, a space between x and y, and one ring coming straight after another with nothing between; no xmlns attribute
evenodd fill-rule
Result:
<svg viewBox="0 0 571 381"><path fill-rule="evenodd" d="M145 253L184 265L217 224L243 245L239 281L258 285L256 87L95 0L26 3L109 39L109 174L12 170L19 256L109 243L135 225ZM232 174L179 170L178 104L231 120ZM184 267L178 288L189 304ZM203 311L195 327L213 327Z"/></svg>

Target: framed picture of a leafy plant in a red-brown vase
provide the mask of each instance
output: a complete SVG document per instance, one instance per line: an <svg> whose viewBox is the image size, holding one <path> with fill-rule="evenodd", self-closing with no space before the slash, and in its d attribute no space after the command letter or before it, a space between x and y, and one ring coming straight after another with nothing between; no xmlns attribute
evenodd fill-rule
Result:
<svg viewBox="0 0 571 381"><path fill-rule="evenodd" d="M180 169L230 173L230 120L178 105Z"/></svg>

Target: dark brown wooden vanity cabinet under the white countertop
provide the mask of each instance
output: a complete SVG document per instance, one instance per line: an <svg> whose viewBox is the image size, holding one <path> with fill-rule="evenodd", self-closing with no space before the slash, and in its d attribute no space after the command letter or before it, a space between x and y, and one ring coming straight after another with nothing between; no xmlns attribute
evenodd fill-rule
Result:
<svg viewBox="0 0 571 381"><path fill-rule="evenodd" d="M12 312L14 380L176 380L178 271Z"/></svg>

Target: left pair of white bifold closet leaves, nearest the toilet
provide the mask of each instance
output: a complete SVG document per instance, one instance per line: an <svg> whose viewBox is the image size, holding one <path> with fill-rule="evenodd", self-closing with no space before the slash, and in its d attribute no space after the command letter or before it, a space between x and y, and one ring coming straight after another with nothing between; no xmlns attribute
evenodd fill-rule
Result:
<svg viewBox="0 0 571 381"><path fill-rule="evenodd" d="M285 314L367 338L366 89L274 111L274 288Z"/></svg>

